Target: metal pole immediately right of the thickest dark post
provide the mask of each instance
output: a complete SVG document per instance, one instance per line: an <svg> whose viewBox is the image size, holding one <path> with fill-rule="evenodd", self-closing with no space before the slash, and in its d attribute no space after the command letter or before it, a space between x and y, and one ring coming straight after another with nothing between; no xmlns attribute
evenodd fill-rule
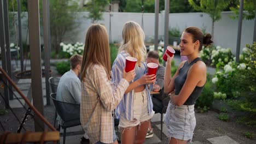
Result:
<svg viewBox="0 0 256 144"><path fill-rule="evenodd" d="M44 73L45 73L45 89L46 89L46 105L50 105L50 83L49 83L49 70L50 70L50 55L49 55L49 1L43 0L43 27L44 27Z"/></svg>

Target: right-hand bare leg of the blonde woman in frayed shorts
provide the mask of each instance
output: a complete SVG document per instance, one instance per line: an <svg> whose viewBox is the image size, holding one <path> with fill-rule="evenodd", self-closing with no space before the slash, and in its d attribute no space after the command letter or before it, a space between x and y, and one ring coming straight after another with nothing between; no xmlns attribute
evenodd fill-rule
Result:
<svg viewBox="0 0 256 144"><path fill-rule="evenodd" d="M137 135L135 138L135 143L144 143L148 131L149 121L142 122L141 125L137 125Z"/></svg>

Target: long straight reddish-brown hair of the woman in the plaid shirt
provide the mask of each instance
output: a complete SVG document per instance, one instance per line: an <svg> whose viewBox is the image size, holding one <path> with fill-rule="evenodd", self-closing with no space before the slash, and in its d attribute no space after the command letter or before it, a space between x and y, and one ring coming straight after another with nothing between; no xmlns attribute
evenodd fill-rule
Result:
<svg viewBox="0 0 256 144"><path fill-rule="evenodd" d="M110 52L107 29L99 24L91 25L86 33L82 63L82 81L90 64L102 65L110 80Z"/></svg>

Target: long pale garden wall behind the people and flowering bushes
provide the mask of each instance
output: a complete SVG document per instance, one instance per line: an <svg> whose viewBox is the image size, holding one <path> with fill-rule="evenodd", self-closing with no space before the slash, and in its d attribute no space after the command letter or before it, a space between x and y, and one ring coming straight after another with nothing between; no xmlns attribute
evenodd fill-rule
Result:
<svg viewBox="0 0 256 144"><path fill-rule="evenodd" d="M66 34L64 43L75 43L76 41L84 43L85 33L88 27L91 25L91 20L85 18L88 12L79 13L77 22L80 23L79 27L75 30L75 34ZM111 35L112 42L120 42L121 31L126 21L136 21L139 25L142 24L142 13L111 13ZM236 52L237 42L237 28L238 20L230 19L229 16L232 12L223 12L222 19L215 23L214 27L214 44L222 47L230 47L232 52ZM103 14L104 20L99 21L106 26L109 32L109 13ZM154 25L155 14L144 13L144 33L146 34L146 40L154 39ZM22 21L25 21L26 17ZM206 27L206 32L211 33L212 20L208 14L205 13L172 13L169 15L169 27L179 27L180 31L183 31L185 27L196 26L202 28ZM241 48L245 47L245 44L252 44L253 42L253 28L254 20L243 20L242 23L242 35L241 35ZM164 35L164 13L159 14L159 39ZM22 32L23 40L26 38L26 27L23 27ZM14 40L14 35L12 37Z"/></svg>

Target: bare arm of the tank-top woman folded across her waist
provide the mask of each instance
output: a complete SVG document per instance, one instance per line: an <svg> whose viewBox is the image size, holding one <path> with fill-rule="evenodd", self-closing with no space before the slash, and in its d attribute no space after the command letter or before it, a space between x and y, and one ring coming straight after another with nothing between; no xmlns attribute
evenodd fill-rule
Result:
<svg viewBox="0 0 256 144"><path fill-rule="evenodd" d="M188 71L187 79L178 95L171 95L172 103L183 105L196 86L206 82L206 65L203 62L195 63Z"/></svg>

